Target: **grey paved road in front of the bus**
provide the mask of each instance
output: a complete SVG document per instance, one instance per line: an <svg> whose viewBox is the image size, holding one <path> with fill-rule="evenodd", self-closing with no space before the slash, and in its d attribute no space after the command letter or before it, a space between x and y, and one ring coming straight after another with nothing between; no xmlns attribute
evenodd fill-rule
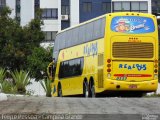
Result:
<svg viewBox="0 0 160 120"><path fill-rule="evenodd" d="M57 120L63 118L84 120L147 120L149 118L148 120L160 120L160 98L47 98L12 96L7 101L0 102L0 114L0 118L3 120L7 117L2 115L7 114L60 115L57 117ZM65 118L64 115L67 117L65 116ZM73 116L71 118L68 115ZM56 119L55 116L52 119Z"/></svg>

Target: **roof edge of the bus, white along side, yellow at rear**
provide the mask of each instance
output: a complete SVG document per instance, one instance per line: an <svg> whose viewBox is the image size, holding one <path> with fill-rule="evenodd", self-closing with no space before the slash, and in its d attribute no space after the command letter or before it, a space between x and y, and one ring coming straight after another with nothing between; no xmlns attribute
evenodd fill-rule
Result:
<svg viewBox="0 0 160 120"><path fill-rule="evenodd" d="M60 34L60 33L65 32L65 31L67 31L67 30L76 28L76 27L78 27L78 26L81 26L81 25L84 25L84 24L86 24L86 23L89 23L89 22L98 20L98 19L100 19L100 18L103 18L103 17L105 17L105 16L107 16L107 15L123 16L123 15L126 15L126 14L127 14L127 15L135 15L135 14L137 14L137 15L148 16L148 17L155 16L155 15L150 14L150 13L139 13L139 12L115 12L115 13L108 13L108 14L104 14L104 15L102 15L102 16L93 18L93 19L91 19L91 20L88 20L88 21L79 23L79 24L74 25L74 26L72 26L72 27L66 28L66 29L64 29L64 30L61 30L60 32L57 33L57 35Z"/></svg>

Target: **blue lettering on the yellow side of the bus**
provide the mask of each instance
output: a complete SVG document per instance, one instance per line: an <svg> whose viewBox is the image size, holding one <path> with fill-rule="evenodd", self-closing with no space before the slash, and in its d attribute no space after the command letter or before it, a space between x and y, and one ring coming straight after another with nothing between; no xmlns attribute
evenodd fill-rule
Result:
<svg viewBox="0 0 160 120"><path fill-rule="evenodd" d="M86 55L97 55L98 53L98 43L86 44L83 49L83 53Z"/></svg>

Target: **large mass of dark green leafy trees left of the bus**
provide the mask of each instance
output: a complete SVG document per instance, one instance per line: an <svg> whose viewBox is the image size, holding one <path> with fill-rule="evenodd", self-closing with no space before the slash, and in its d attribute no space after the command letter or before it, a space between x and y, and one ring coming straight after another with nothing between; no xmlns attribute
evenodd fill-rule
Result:
<svg viewBox="0 0 160 120"><path fill-rule="evenodd" d="M40 47L44 40L41 11L24 27L10 18L10 13L8 7L0 13L0 66L10 71L29 70L32 77L42 78L40 72L45 72L51 54Z"/></svg>

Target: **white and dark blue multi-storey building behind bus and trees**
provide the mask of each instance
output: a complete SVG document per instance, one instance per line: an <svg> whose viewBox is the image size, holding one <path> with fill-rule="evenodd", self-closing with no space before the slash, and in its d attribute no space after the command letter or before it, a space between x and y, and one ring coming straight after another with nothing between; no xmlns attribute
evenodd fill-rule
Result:
<svg viewBox="0 0 160 120"><path fill-rule="evenodd" d="M16 17L22 26L34 19L36 9L41 8L45 41L52 43L61 29L107 12L152 11L151 0L0 0L0 6L3 4L12 9L11 17Z"/></svg>

